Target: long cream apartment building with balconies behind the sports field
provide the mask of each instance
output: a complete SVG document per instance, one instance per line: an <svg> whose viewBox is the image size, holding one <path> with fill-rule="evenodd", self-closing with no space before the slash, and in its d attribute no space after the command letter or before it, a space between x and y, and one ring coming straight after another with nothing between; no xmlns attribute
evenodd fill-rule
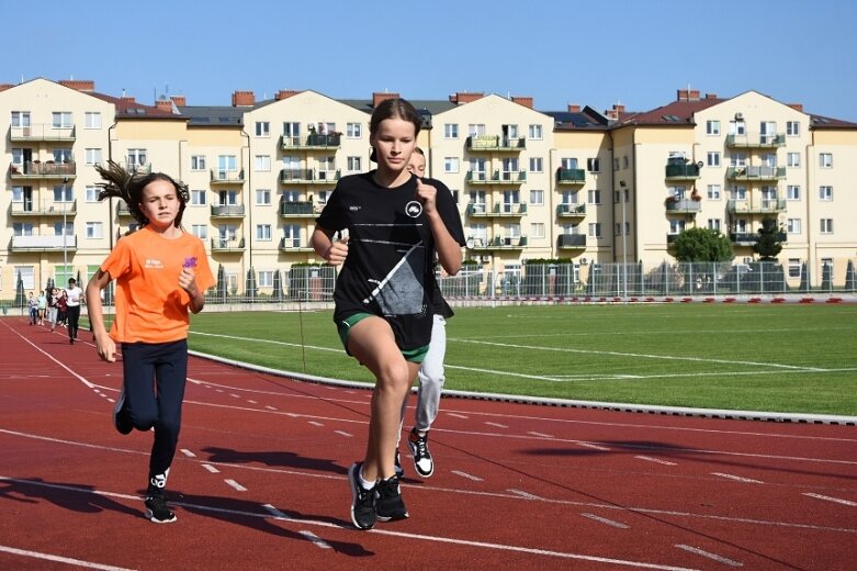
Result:
<svg viewBox="0 0 857 571"><path fill-rule="evenodd" d="M372 168L369 116L391 97L235 91L230 105L180 96L148 105L93 81L0 85L0 299L19 275L27 291L87 280L133 229L122 201L98 201L93 166L106 159L184 181L184 227L229 290L240 293L252 269L270 291L275 272L319 261L315 216L340 177ZM802 264L844 276L857 257L857 124L755 91L678 90L645 112L538 111L531 98L473 92L411 102L428 172L452 190L466 257L484 269L520 271L535 258L655 265L694 226L723 232L743 259L766 217L782 225L792 279Z"/></svg>

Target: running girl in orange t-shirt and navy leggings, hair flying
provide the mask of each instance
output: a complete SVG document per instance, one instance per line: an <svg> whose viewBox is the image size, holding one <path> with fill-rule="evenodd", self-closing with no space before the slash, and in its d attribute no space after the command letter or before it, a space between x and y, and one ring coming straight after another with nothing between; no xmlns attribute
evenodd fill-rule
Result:
<svg viewBox="0 0 857 571"><path fill-rule="evenodd" d="M116 344L122 344L124 380L113 410L116 430L155 428L146 517L157 524L174 522L165 492L188 377L189 312L202 311L214 277L202 240L181 228L189 198L184 184L162 172L133 175L113 161L95 169L105 181L99 199L123 199L142 228L121 238L89 281L89 321L103 360L115 361ZM108 333L101 291L113 280L116 315Z"/></svg>

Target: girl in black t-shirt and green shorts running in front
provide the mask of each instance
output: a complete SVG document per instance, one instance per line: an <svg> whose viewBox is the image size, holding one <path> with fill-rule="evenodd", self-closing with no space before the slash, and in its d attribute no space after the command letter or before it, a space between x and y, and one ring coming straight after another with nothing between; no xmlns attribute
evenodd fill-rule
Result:
<svg viewBox="0 0 857 571"><path fill-rule="evenodd" d="M334 320L346 350L375 376L365 457L348 471L360 529L408 516L394 468L399 413L431 339L436 254L448 273L461 268L452 194L407 170L421 124L405 100L379 104L369 125L377 169L339 180L312 237L329 264L345 261ZM334 240L336 232L348 237Z"/></svg>

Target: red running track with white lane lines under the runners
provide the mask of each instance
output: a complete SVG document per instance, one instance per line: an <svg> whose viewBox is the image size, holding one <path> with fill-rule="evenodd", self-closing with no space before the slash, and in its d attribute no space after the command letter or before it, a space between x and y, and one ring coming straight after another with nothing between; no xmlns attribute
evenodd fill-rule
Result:
<svg viewBox="0 0 857 571"><path fill-rule="evenodd" d="M0 569L855 569L854 427L444 400L410 518L359 531L370 391L192 358L155 525L121 366L21 317L0 347Z"/></svg>

